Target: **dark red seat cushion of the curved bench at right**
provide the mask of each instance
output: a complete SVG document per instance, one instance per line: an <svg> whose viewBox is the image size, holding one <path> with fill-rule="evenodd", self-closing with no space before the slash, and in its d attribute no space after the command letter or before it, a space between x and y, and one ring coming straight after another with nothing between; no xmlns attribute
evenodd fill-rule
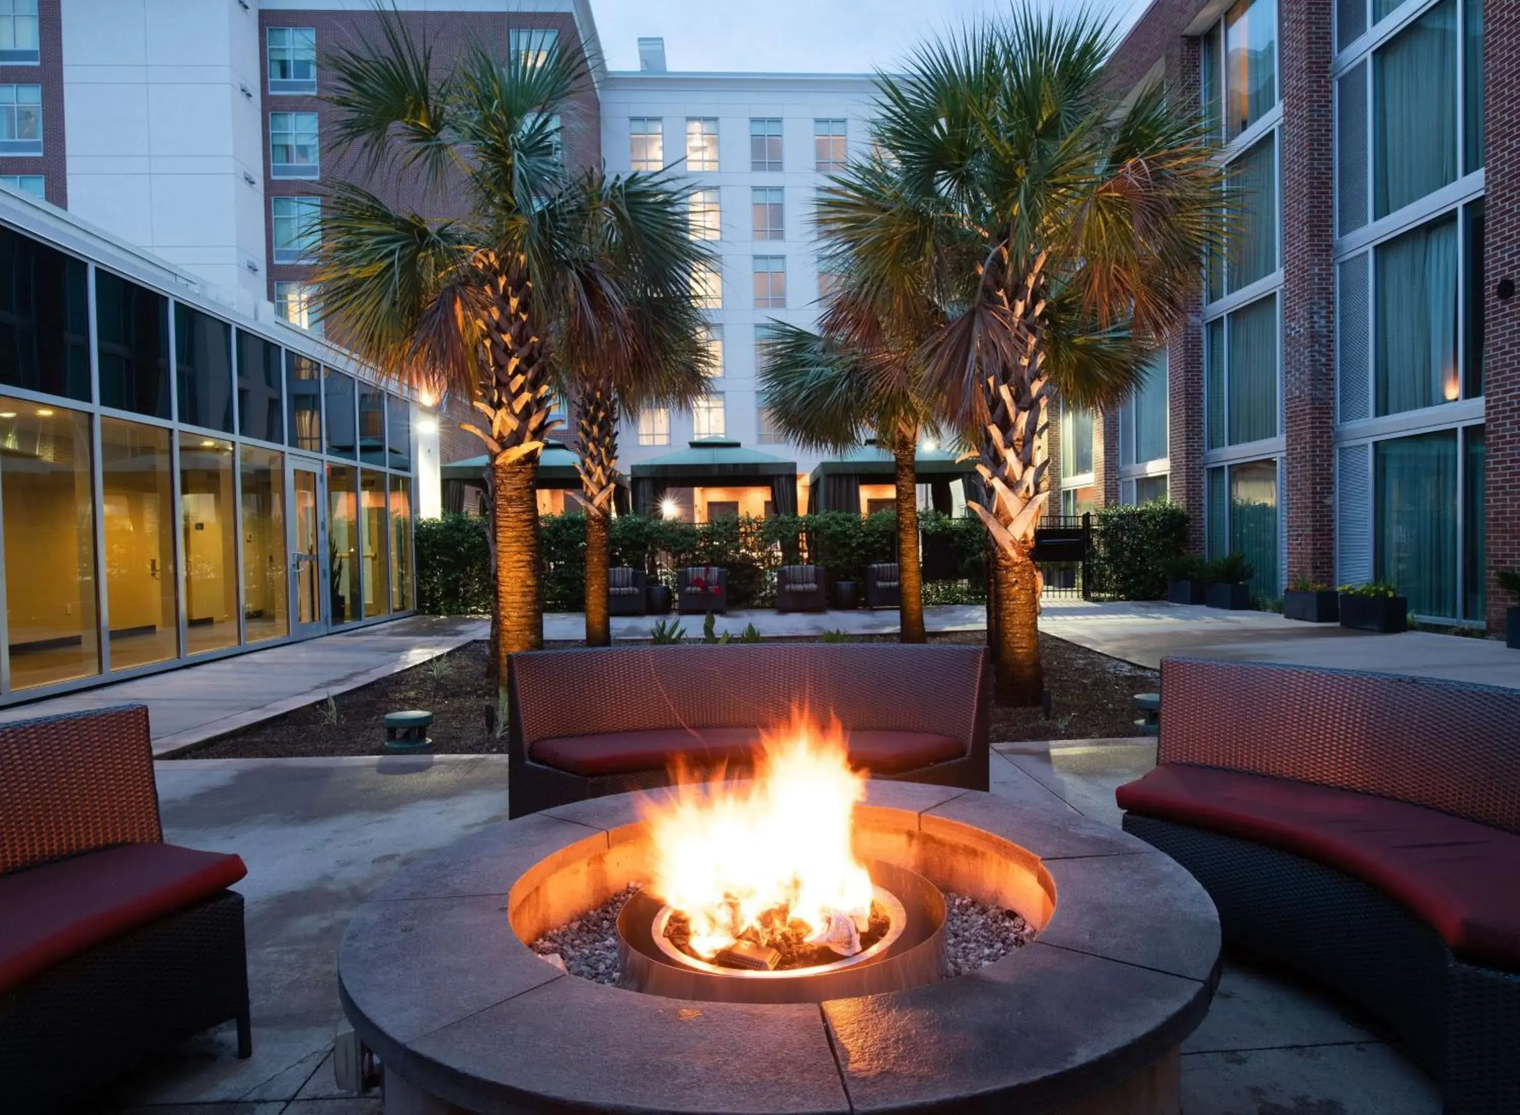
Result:
<svg viewBox="0 0 1520 1115"><path fill-rule="evenodd" d="M1166 764L1119 806L1294 852L1409 907L1452 952L1520 970L1520 835L1307 782Z"/></svg>

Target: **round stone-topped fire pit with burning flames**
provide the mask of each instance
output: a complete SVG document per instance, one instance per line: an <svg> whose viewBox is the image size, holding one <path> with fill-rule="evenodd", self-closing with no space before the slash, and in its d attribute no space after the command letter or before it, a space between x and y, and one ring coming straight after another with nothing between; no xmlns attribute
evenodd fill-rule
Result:
<svg viewBox="0 0 1520 1115"><path fill-rule="evenodd" d="M825 751L497 824L394 878L339 952L388 1115L1175 1115L1219 966L1192 876L1069 809L807 765ZM619 986L529 949L631 884ZM945 893L1038 936L947 978Z"/></svg>

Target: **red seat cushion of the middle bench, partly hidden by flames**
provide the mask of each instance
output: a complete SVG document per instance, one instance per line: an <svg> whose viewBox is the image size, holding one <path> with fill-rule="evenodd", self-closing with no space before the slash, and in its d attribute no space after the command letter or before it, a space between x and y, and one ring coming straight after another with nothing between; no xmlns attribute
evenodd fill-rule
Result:
<svg viewBox="0 0 1520 1115"><path fill-rule="evenodd" d="M901 774L965 754L959 739L926 732L862 730L851 732L848 742L850 764L874 774ZM664 770L676 758L692 767L739 765L758 747L760 733L748 727L655 729L540 739L529 756L546 767L594 777Z"/></svg>

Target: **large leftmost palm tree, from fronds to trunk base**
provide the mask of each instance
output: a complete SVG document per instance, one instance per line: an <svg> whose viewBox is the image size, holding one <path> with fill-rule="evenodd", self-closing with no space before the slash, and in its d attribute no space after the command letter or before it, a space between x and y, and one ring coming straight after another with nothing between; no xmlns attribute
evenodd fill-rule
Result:
<svg viewBox="0 0 1520 1115"><path fill-rule="evenodd" d="M562 158L584 58L465 46L447 68L394 14L378 43L330 58L336 146L369 181L416 183L426 201L464 216L395 205L334 186L322 207L316 281L336 335L383 373L473 400L465 426L489 456L496 669L543 645L535 479L555 421L555 356L611 351L649 297L643 269L587 237L587 211L623 233L649 183L606 184ZM392 190L389 193L401 193ZM616 216L611 210L622 207ZM623 253L619 248L619 253ZM626 253L625 253L626 256Z"/></svg>

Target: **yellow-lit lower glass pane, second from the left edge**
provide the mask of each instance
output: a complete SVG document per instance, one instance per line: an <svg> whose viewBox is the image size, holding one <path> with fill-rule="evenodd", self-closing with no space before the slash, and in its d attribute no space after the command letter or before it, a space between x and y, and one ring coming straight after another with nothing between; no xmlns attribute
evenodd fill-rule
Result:
<svg viewBox="0 0 1520 1115"><path fill-rule="evenodd" d="M167 662L179 653L169 430L102 418L100 475L111 669Z"/></svg>

